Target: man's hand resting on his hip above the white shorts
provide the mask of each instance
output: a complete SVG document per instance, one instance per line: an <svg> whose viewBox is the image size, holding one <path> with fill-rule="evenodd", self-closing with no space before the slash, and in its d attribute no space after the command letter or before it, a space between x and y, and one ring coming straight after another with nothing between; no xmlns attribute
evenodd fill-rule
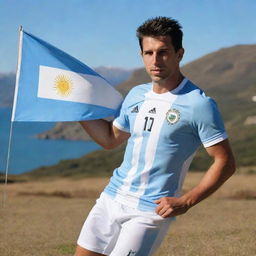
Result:
<svg viewBox="0 0 256 256"><path fill-rule="evenodd" d="M174 217L187 212L189 206L181 197L162 197L155 201L156 213L163 218Z"/></svg>

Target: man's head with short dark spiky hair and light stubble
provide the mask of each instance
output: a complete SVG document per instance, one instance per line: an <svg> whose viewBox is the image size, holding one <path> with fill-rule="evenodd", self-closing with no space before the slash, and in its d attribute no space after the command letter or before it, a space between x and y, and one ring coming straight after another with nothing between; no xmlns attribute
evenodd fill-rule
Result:
<svg viewBox="0 0 256 256"><path fill-rule="evenodd" d="M154 84L172 88L181 79L182 31L173 19L158 17L147 20L137 29L141 56Z"/></svg>

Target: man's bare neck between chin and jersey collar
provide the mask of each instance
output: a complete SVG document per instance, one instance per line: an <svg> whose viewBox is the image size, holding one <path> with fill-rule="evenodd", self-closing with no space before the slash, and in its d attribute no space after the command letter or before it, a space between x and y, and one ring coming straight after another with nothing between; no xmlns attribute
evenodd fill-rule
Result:
<svg viewBox="0 0 256 256"><path fill-rule="evenodd" d="M153 91L159 94L172 91L179 86L183 79L184 76L181 73L178 73L175 77L172 77L169 80L159 82L153 81Z"/></svg>

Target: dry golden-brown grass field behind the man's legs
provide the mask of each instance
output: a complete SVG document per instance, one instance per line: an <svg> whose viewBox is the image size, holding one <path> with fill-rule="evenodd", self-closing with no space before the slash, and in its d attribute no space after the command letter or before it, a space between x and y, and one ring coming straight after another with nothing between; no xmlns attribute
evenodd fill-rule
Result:
<svg viewBox="0 0 256 256"><path fill-rule="evenodd" d="M184 190L201 176L190 173ZM0 255L73 255L82 223L106 183L90 178L8 185L6 207L0 208ZM256 175L234 175L177 218L156 255L256 255L255 184Z"/></svg>

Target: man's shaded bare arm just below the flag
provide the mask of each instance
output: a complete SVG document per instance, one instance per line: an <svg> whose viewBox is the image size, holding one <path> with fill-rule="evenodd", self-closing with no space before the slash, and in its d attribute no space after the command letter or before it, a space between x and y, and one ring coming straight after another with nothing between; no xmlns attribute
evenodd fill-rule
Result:
<svg viewBox="0 0 256 256"><path fill-rule="evenodd" d="M112 122L103 119L80 121L80 124L105 149L113 149L130 137L130 133L119 130Z"/></svg>

